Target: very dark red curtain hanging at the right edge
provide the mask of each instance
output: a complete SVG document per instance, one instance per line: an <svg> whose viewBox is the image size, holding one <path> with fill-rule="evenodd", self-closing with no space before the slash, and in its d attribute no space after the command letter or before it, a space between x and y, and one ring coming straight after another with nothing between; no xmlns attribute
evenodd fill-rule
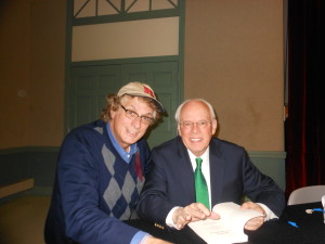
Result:
<svg viewBox="0 0 325 244"><path fill-rule="evenodd" d="M325 184L324 0L287 1L286 195Z"/></svg>

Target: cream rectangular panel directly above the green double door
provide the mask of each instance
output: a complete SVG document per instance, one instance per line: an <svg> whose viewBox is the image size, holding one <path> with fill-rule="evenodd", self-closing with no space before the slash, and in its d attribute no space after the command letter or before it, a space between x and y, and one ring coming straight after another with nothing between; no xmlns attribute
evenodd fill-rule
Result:
<svg viewBox="0 0 325 244"><path fill-rule="evenodd" d="M72 62L178 55L179 22L159 17L74 26Z"/></svg>

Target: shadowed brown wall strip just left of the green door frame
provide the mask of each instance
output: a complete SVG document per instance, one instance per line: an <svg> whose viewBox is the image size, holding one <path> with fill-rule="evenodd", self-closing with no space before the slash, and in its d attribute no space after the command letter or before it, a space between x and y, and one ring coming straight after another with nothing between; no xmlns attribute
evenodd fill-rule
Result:
<svg viewBox="0 0 325 244"><path fill-rule="evenodd" d="M32 2L30 144L60 145L64 134L66 1Z"/></svg>

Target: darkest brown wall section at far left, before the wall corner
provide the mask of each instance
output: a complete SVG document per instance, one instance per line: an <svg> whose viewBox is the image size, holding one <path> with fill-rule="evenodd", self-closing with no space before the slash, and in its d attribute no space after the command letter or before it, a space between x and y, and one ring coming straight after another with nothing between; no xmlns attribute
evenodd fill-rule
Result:
<svg viewBox="0 0 325 244"><path fill-rule="evenodd" d="M0 147L28 145L30 143L28 1L0 1Z"/></svg>

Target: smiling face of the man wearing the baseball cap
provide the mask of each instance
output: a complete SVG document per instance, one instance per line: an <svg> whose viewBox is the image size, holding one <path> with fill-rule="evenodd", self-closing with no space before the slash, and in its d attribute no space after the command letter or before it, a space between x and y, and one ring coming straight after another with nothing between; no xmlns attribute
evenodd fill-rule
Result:
<svg viewBox="0 0 325 244"><path fill-rule="evenodd" d="M139 116L154 117L154 111L145 102L140 101L138 97L126 97L121 101L121 105ZM127 112L119 106L117 111L110 111L110 128L117 142L125 149L139 141L150 125L141 121L140 117L129 118Z"/></svg>

